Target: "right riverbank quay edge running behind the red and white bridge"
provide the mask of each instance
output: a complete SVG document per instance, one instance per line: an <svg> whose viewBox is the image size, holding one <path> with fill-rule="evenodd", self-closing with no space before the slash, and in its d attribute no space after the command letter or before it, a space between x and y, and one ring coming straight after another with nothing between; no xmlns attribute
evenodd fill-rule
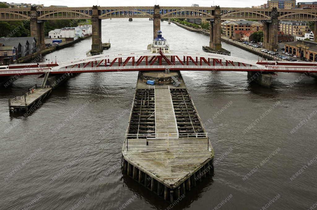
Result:
<svg viewBox="0 0 317 210"><path fill-rule="evenodd" d="M178 22L175 22L175 21L171 21L172 23L175 23L175 25L181 27L181 28L184 28L188 31L191 31L191 32L197 32L197 33L201 33L201 34L204 34L204 35L207 35L207 36L210 36L210 32L209 31L206 31L204 29L198 29L198 28L193 28L193 27L190 27L190 26L186 26L184 24L181 24L181 23L178 23ZM234 45L234 46L237 46L239 48L242 48L244 50L247 50L249 52L252 52L256 55L259 55L265 59L269 59L269 60L284 60L284 59L281 59L281 58L278 58L276 56L273 56L273 55L270 55L270 54L267 54L267 53L264 53L264 52L261 52L261 50L263 48L255 48L255 47L252 47L252 46L249 46L249 45L245 45L243 44L242 42L239 42L239 41L236 41L236 40L231 40L229 39L228 37L225 37L225 36L222 36L221 37L221 40L228 43L228 44L231 44L231 45Z"/></svg>

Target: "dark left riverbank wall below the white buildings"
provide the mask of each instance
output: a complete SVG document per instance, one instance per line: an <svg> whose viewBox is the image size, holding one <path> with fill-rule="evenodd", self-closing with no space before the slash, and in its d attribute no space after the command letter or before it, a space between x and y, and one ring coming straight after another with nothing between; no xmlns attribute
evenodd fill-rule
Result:
<svg viewBox="0 0 317 210"><path fill-rule="evenodd" d="M60 49L63 49L65 47L68 47L68 46L72 46L73 44L81 41L81 40L85 40L87 38L91 37L90 36L85 36L85 37L80 37L74 41L66 41L66 42L62 42L61 44L59 45L55 45L55 46L51 46L51 47L48 47L44 50L41 50L39 52L36 52L36 53L33 53L31 55L27 55L23 58L19 58L17 59L15 62L13 62L14 64L23 64L23 63L38 63L38 62L41 62L41 57L43 55L46 55L46 54L49 54L51 52L54 52L56 50L60 50Z"/></svg>

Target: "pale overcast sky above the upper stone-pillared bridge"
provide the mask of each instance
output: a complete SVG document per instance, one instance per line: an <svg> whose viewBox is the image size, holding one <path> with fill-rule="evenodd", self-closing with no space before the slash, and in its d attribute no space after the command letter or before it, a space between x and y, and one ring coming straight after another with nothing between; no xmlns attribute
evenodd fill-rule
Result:
<svg viewBox="0 0 317 210"><path fill-rule="evenodd" d="M4 1L4 0L3 0ZM298 2L312 2L314 0L300 0ZM20 3L18 0L7 0L7 2ZM50 5L65 5L68 7L90 7L96 5L99 6L153 6L159 4L161 6L191 6L191 4L199 4L199 6L213 6L220 5L220 7L251 7L261 5L267 1L262 0L118 0L118 1L102 1L102 0L40 0L40 1L21 1L23 3L32 4L44 4L44 6Z"/></svg>

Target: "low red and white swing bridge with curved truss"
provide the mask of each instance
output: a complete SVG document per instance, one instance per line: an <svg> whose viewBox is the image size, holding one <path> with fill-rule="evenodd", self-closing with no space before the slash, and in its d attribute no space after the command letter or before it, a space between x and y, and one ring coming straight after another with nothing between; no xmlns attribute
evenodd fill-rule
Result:
<svg viewBox="0 0 317 210"><path fill-rule="evenodd" d="M251 61L222 54L170 50L106 53L60 64L15 64L1 70L1 76L116 72L116 71L258 71L317 73L317 62Z"/></svg>

